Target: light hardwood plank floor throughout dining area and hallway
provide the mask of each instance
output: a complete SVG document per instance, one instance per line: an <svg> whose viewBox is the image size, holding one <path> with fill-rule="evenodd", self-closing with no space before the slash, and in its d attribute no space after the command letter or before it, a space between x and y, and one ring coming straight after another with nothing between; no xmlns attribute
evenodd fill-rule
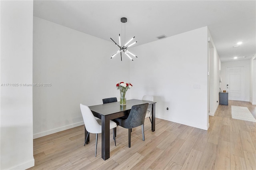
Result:
<svg viewBox="0 0 256 170"><path fill-rule="evenodd" d="M156 119L156 131L152 132L146 119L145 141L141 127L133 128L131 148L128 129L117 127L116 146L110 138L110 158L106 161L101 158L101 134L97 157L95 134L84 146L84 126L36 138L35 166L29 170L256 170L256 123L232 119L231 105L248 107L256 118L255 105L229 101L228 106L219 105L214 117L209 116L208 130Z"/></svg>

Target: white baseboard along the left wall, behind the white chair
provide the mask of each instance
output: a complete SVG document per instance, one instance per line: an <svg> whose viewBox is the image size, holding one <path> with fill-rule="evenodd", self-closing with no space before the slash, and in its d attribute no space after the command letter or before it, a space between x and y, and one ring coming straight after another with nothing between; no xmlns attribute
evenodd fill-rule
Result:
<svg viewBox="0 0 256 170"><path fill-rule="evenodd" d="M84 121L78 122L78 123L73 123L71 125L66 125L66 126L59 127L59 128L54 128L54 129L47 130L47 131L44 131L44 132L39 132L39 133L33 134L33 138L34 139L35 138L40 138L40 137L46 136L48 134L53 134L53 133L56 133L56 132L60 132L62 130L67 130L67 129L78 127L78 126L81 126L81 125L84 125Z"/></svg>

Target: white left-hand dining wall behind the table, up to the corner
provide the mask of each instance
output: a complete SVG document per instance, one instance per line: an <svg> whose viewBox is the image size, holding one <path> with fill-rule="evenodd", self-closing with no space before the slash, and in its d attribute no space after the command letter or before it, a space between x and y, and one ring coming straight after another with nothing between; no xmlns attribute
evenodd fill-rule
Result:
<svg viewBox="0 0 256 170"><path fill-rule="evenodd" d="M129 81L130 60L110 59L114 43L34 17L33 44L33 83L51 83L33 87L34 138L83 125L80 103L119 101L116 82Z"/></svg>

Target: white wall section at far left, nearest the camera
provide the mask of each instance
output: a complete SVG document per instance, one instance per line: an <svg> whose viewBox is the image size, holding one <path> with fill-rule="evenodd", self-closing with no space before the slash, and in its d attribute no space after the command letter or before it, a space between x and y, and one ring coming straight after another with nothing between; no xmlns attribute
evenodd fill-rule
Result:
<svg viewBox="0 0 256 170"><path fill-rule="evenodd" d="M32 83L33 1L0 3L0 169L27 169L34 166L32 87L20 83Z"/></svg>

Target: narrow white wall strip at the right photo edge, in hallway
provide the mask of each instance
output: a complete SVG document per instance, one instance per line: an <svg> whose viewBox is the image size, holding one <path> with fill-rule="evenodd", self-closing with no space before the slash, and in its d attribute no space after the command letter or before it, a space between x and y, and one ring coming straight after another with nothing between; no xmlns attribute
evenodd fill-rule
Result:
<svg viewBox="0 0 256 170"><path fill-rule="evenodd" d="M250 103L256 105L256 54L250 59Z"/></svg>

